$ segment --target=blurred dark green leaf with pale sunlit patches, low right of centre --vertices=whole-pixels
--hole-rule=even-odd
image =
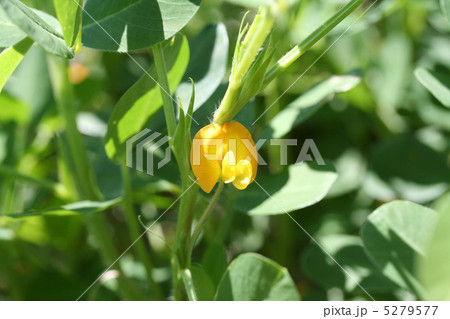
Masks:
[[[347,292],[358,291],[364,297],[367,296],[358,284],[369,293],[387,293],[397,287],[367,258],[359,237],[329,235],[319,239],[319,243],[336,261],[319,246],[311,244],[303,254],[302,262],[306,275],[321,287],[340,288]]]

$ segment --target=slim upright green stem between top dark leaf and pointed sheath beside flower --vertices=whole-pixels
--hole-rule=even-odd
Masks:
[[[173,137],[176,128],[175,111],[172,96],[170,95],[169,80],[167,79],[166,62],[164,60],[164,52],[161,43],[152,47],[153,58],[155,60],[155,68],[158,84],[161,89],[163,100],[164,115],[166,117],[167,131],[169,137]]]

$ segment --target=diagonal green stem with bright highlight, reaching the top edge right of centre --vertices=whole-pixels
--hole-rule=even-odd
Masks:
[[[342,7],[334,16],[328,19],[324,24],[314,30],[305,40],[300,44],[292,48],[281,59],[274,64],[269,71],[267,71],[264,77],[265,87],[269,84],[278,74],[286,70],[292,63],[294,63],[300,56],[302,56],[307,50],[309,50],[320,39],[326,36],[331,30],[333,30],[342,20],[344,20],[350,13],[356,10],[366,0],[351,0],[344,7]]]

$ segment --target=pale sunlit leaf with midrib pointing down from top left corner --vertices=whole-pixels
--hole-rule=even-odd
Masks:
[[[10,19],[45,51],[63,58],[73,58],[74,52],[66,45],[56,19],[44,18],[50,16],[38,14],[19,0],[0,0],[0,5]]]

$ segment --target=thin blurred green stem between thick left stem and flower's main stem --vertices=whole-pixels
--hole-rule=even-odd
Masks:
[[[123,208],[125,211],[125,216],[127,219],[131,237],[133,239],[136,239],[141,236],[142,231],[140,230],[137,216],[133,208],[133,193],[131,188],[130,172],[128,167],[123,165],[122,165],[122,176],[125,187]],[[149,251],[145,247],[144,241],[138,240],[135,243],[134,248],[136,249],[136,253],[139,256],[139,259],[144,264],[144,268],[147,274],[147,280],[150,285],[150,289],[152,290],[153,296],[155,297],[156,300],[164,300],[164,295],[161,291],[161,288],[153,278],[153,265],[150,260]]]

